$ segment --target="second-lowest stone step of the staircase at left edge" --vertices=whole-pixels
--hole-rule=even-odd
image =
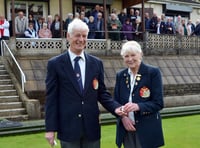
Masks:
[[[16,116],[16,115],[24,115],[24,114],[26,114],[25,108],[1,109],[0,110],[0,117]]]

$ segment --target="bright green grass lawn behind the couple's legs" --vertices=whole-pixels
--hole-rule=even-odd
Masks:
[[[163,148],[199,148],[200,115],[163,119]],[[44,133],[0,137],[0,148],[50,148]],[[55,148],[60,148],[56,146]],[[102,126],[101,148],[116,148],[115,125]]]

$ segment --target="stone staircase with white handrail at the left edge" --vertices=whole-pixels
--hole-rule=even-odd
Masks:
[[[28,119],[26,109],[17,90],[0,59],[0,119],[21,121]]]

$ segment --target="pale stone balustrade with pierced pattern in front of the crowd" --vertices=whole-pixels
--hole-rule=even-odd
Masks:
[[[86,51],[95,55],[119,55],[125,40],[88,39]],[[145,33],[143,42],[139,42],[146,55],[199,55],[200,38],[197,36],[157,35]],[[29,39],[16,38],[12,41],[18,55],[59,54],[69,47],[66,38]]]

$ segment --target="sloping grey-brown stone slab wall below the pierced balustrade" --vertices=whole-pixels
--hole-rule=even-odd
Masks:
[[[46,65],[50,57],[18,57],[27,82],[25,92],[30,98],[45,102]],[[105,84],[113,93],[115,75],[125,68],[120,56],[100,56],[104,63]],[[200,94],[199,56],[145,56],[146,64],[158,66],[162,73],[164,96]]]

